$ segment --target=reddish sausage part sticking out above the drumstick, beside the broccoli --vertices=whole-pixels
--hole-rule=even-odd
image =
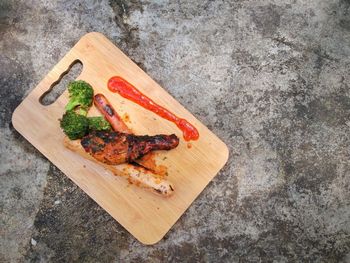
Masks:
[[[132,133],[103,94],[94,96],[94,104],[115,131]]]

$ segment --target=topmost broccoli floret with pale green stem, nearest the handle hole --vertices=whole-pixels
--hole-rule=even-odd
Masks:
[[[68,84],[69,102],[66,111],[74,110],[79,106],[79,114],[86,116],[93,100],[94,90],[83,80],[72,81]]]

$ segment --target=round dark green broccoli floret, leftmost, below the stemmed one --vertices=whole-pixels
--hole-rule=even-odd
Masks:
[[[60,126],[69,139],[76,140],[82,138],[88,132],[89,121],[83,115],[74,111],[67,111],[60,120]]]

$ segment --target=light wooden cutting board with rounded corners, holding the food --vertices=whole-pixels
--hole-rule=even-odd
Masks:
[[[168,167],[168,180],[175,186],[171,197],[130,185],[125,178],[63,146],[64,134],[58,119],[68,101],[67,90],[49,106],[42,105],[39,99],[77,60],[83,64],[78,79],[90,83],[95,93],[103,93],[120,115],[127,114],[127,125],[135,134],[175,133],[180,138],[176,149],[157,156],[158,164]],[[173,123],[111,93],[107,81],[116,75],[190,121],[199,131],[199,140],[192,141],[188,148]],[[96,109],[91,111],[98,114]],[[89,33],[79,40],[17,107],[12,122],[17,131],[144,244],[162,239],[228,159],[228,148],[218,137],[100,33]]]

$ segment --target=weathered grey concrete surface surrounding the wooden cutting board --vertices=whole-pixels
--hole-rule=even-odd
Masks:
[[[12,127],[87,32],[105,34],[230,148],[143,246]],[[350,2],[1,1],[2,262],[348,262]]]

